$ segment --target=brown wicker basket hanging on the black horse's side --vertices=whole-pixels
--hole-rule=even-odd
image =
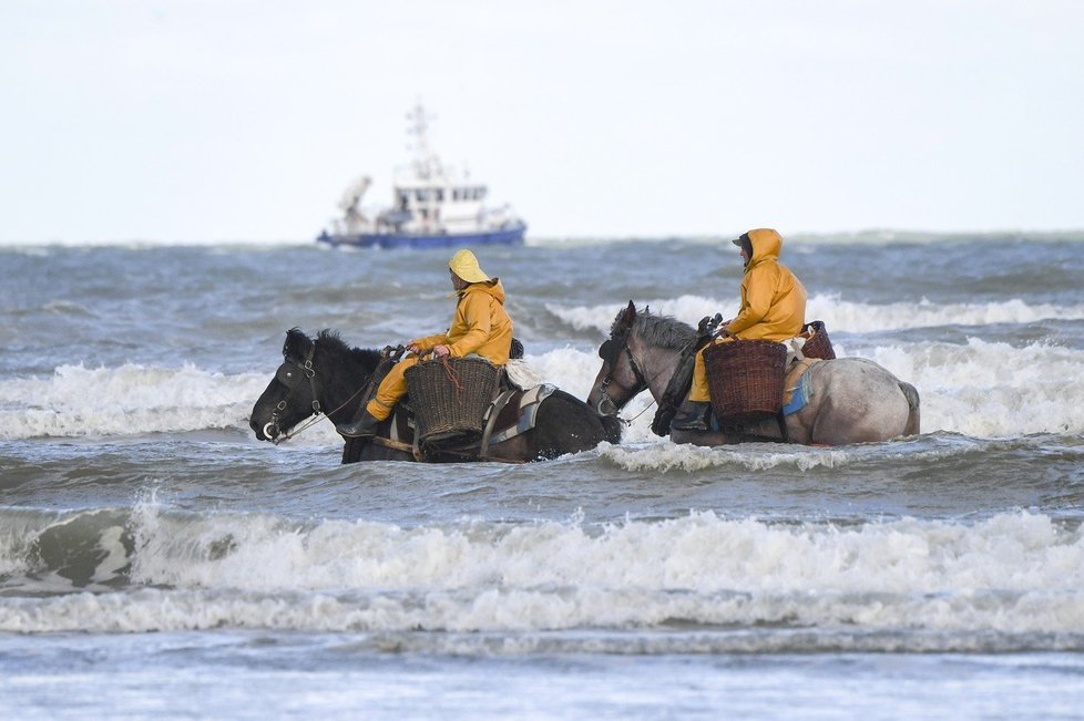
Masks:
[[[407,390],[421,442],[482,432],[501,369],[483,358],[441,358],[407,369]]]

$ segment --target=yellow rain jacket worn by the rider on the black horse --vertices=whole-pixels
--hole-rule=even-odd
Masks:
[[[508,362],[512,346],[512,319],[504,312],[504,287],[494,278],[474,282],[459,291],[456,317],[447,333],[418,338],[421,350],[448,346],[454,358],[470,353],[481,356],[494,365]]]

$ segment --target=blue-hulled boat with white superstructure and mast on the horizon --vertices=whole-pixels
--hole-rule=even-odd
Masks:
[[[341,217],[316,238],[333,246],[439,248],[521,245],[526,224],[508,205],[485,207],[489,188],[441,163],[429,145],[431,116],[419,104],[407,114],[415,158],[396,172],[390,207],[367,213],[361,200],[372,184],[351,183],[339,200]]]

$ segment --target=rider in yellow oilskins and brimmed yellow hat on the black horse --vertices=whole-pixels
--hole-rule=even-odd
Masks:
[[[452,287],[459,300],[456,316],[447,332],[417,338],[407,343],[413,353],[391,367],[380,381],[376,396],[354,423],[340,423],[339,433],[349,437],[376,435],[377,425],[391,415],[399,399],[407,393],[403,374],[430,351],[438,358],[462,358],[475,354],[494,365],[508,362],[512,346],[512,319],[504,311],[504,287],[490,278],[470,250],[459,250],[448,262]]]

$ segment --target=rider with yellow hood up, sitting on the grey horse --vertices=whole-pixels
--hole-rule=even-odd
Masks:
[[[801,332],[806,322],[806,289],[801,281],[779,264],[783,238],[769,228],[749,230],[735,239],[745,260],[742,279],[742,307],[738,315],[724,327],[724,333],[714,342],[734,338],[787,340]],[[688,401],[674,419],[674,428],[706,431],[708,403],[707,371],[704,368],[704,350],[696,353],[693,365],[693,385]]]

